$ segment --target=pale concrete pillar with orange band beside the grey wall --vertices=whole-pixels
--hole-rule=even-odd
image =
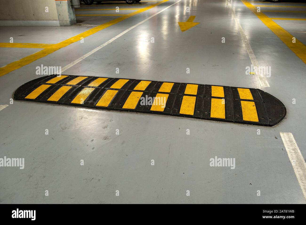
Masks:
[[[74,8],[71,7],[69,0],[55,0],[60,26],[71,26],[76,24]]]

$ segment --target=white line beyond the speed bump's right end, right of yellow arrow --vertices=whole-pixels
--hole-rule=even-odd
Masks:
[[[234,12],[234,10],[232,8],[232,5],[230,4],[230,2],[227,2],[227,3],[228,3],[228,5],[229,5],[229,7],[230,7],[230,9],[231,9],[231,11],[233,13],[234,20],[235,20],[236,25],[237,25],[237,27],[239,29],[239,32],[241,34],[244,46],[245,46],[245,48],[246,48],[246,50],[248,52],[248,55],[249,55],[249,57],[251,59],[251,62],[253,64],[253,66],[257,66],[257,68],[259,68],[259,64],[257,62],[255,54],[254,54],[254,52],[252,50],[252,47],[251,47],[250,43],[248,42],[247,36],[245,35],[245,33],[244,33],[244,31],[243,31],[239,21],[237,20],[237,17],[236,17],[236,14],[235,14],[235,12]],[[267,78],[262,73],[259,73],[259,74],[256,73],[256,75],[258,77],[260,86],[262,86],[262,87],[270,87],[270,85],[269,85],[269,83],[267,81]]]

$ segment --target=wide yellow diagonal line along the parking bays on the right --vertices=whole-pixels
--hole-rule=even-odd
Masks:
[[[257,9],[249,2],[241,0],[282,42],[293,51],[304,63],[306,63],[306,46],[296,39],[296,43],[292,43],[293,36],[275,23],[264,13],[257,13]],[[305,6],[306,7],[306,6]]]

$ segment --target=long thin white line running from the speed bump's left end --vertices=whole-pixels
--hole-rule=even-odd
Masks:
[[[126,32],[129,32],[130,30],[132,30],[133,28],[139,26],[140,24],[144,23],[145,21],[151,19],[152,17],[155,17],[157,14],[165,11],[166,9],[170,8],[171,6],[175,5],[176,3],[181,2],[181,0],[178,0],[177,2],[174,2],[172,5],[167,6],[166,8],[160,10],[159,12],[155,13],[154,15],[148,17],[147,19],[144,19],[143,21],[139,22],[138,24],[126,29],[125,31],[121,32],[120,34],[118,34],[117,36],[113,37],[112,39],[110,39],[109,41],[105,42],[104,44],[100,45],[99,47],[96,47],[94,50],[88,52],[87,54],[84,54],[82,57],[76,59],[75,61],[69,63],[67,66],[62,68],[61,72],[64,72],[66,69],[69,69],[70,67],[76,65],[76,63],[82,61],[84,58],[87,58],[88,56],[90,56],[91,54],[95,53],[96,51],[98,51],[99,49],[103,48],[104,46],[108,45],[109,43],[113,42],[114,40],[116,40],[118,37],[121,37],[122,35],[124,35]]]

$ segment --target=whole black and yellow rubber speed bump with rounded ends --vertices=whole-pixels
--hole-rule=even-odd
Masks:
[[[56,75],[21,85],[16,100],[274,126],[284,104],[255,88]]]

